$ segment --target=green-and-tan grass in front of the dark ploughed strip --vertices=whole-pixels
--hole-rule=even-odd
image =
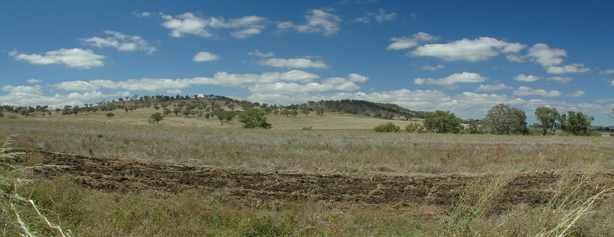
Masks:
[[[591,174],[583,173],[583,177]],[[190,190],[179,195],[90,190],[70,177],[41,179],[28,192],[47,215],[76,236],[611,236],[612,190],[574,192],[581,180],[563,179],[540,206],[517,205],[486,214],[505,177],[464,188],[451,211],[416,204],[287,203],[247,208],[216,200],[219,193]],[[612,183],[610,183],[612,184]],[[603,192],[605,191],[605,192]],[[587,203],[587,201],[594,201]],[[579,211],[584,211],[580,213]],[[34,230],[47,233],[44,227]]]

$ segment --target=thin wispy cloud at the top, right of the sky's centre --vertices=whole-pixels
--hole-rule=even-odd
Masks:
[[[294,29],[300,33],[322,33],[325,36],[336,34],[340,31],[341,17],[332,13],[332,8],[310,9],[305,17],[303,25],[296,25],[292,21],[283,21],[277,24],[277,28]]]

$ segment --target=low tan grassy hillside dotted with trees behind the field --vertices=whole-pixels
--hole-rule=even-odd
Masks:
[[[309,105],[311,104],[311,105]],[[122,101],[103,101],[98,105],[87,105],[79,107],[77,114],[74,114],[74,108],[64,108],[60,110],[50,110],[41,106],[42,111],[28,112],[28,114],[20,113],[21,109],[15,109],[14,112],[4,111],[4,117],[15,117],[16,119],[37,119],[37,120],[53,120],[63,122],[95,122],[95,123],[121,123],[131,125],[149,125],[147,119],[155,112],[163,113],[166,106],[171,112],[160,122],[159,126],[212,126],[219,128],[239,128],[242,123],[233,118],[230,122],[220,121],[214,114],[216,110],[239,112],[251,107],[259,107],[267,113],[267,121],[273,125],[275,130],[301,130],[302,128],[311,128],[314,130],[335,129],[335,130],[371,130],[373,127],[381,123],[394,122],[402,128],[410,123],[419,123],[421,118],[411,118],[410,121],[405,121],[405,117],[400,117],[400,114],[410,113],[408,109],[403,109],[392,104],[378,104],[368,101],[321,101],[319,103],[303,104],[314,108],[322,107],[331,108],[325,109],[323,113],[318,115],[316,111],[309,111],[308,114],[300,112],[300,105],[291,106],[269,106],[267,104],[251,103],[249,101],[237,101],[225,96],[212,96],[212,98],[149,98],[149,99],[123,99]],[[362,114],[352,114],[339,111],[340,108],[347,107],[356,109],[358,107],[365,111],[397,111],[391,120],[384,118],[375,118]],[[397,108],[395,108],[397,107]],[[175,108],[180,108],[177,115],[174,113]],[[296,109],[296,114],[292,114],[292,109]],[[38,109],[38,108],[36,108]],[[183,115],[185,109],[190,109],[192,112],[201,111],[199,116],[196,113]],[[287,114],[284,114],[287,112]],[[108,113],[114,114],[113,117],[107,117]],[[209,118],[206,114],[210,113]],[[393,114],[392,112],[389,112]]]

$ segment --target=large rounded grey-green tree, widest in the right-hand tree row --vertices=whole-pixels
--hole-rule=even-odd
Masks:
[[[484,118],[486,130],[492,134],[511,135],[527,133],[527,115],[508,104],[497,104]]]

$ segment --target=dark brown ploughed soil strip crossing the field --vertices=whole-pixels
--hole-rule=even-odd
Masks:
[[[181,166],[166,163],[128,162],[53,152],[41,153],[47,164],[68,166],[45,171],[46,176],[71,174],[74,182],[101,190],[134,192],[158,190],[181,193],[200,189],[223,193],[222,201],[259,206],[266,203],[329,201],[353,204],[414,204],[450,206],[459,200],[462,188],[490,175],[386,176],[308,173],[260,173],[231,168]],[[492,200],[494,212],[519,203],[543,204],[552,195],[549,186],[557,173],[519,173]],[[614,180],[614,174],[603,174]]]

